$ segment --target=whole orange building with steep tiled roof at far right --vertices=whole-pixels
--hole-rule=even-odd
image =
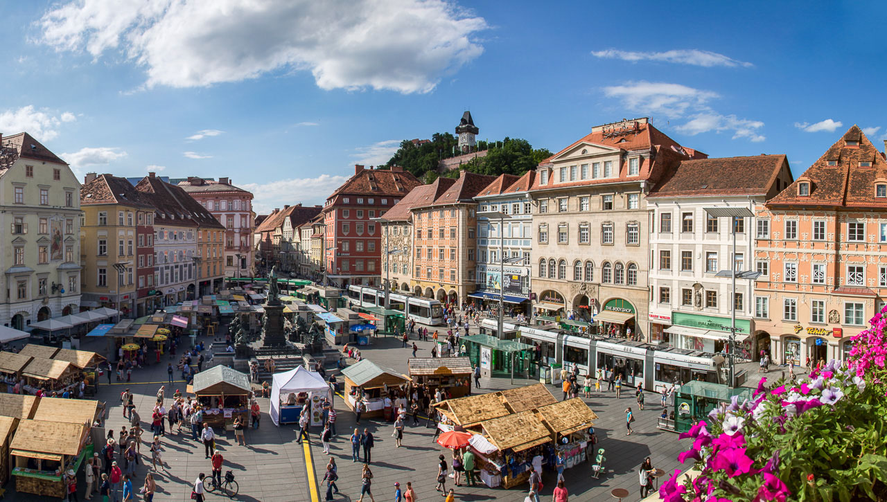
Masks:
[[[845,359],[887,297],[887,162],[853,126],[757,211],[754,315],[773,362]]]

